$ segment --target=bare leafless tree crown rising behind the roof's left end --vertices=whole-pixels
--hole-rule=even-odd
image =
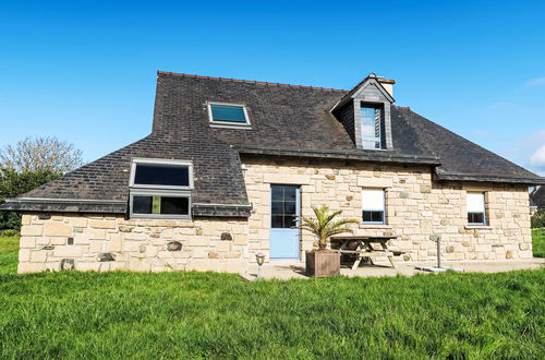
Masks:
[[[57,137],[26,137],[0,151],[0,168],[17,172],[64,173],[82,165],[82,151]]]

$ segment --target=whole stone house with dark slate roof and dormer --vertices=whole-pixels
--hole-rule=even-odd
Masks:
[[[158,72],[152,133],[8,200],[19,271],[243,272],[301,260],[294,228],[327,204],[398,261],[532,257],[541,178],[399,107],[395,81],[351,91]]]

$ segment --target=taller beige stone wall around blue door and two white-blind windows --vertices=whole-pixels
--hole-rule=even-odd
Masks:
[[[523,185],[437,182],[425,166],[377,166],[362,163],[316,160],[243,159],[249,199],[251,253],[268,257],[270,231],[270,184],[301,185],[302,214],[311,206],[328,205],[342,216],[361,219],[362,189],[386,190],[386,225],[354,226],[354,235],[397,236],[392,248],[404,261],[436,260],[440,236],[443,259],[501,260],[532,257],[529,194]],[[486,192],[488,226],[470,227],[467,220],[467,191]],[[303,252],[314,238],[302,233]],[[400,259],[400,257],[398,257]],[[399,260],[398,260],[399,261]]]

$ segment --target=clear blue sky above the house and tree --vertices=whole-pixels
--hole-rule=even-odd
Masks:
[[[156,71],[351,88],[370,72],[428,119],[545,175],[543,1],[13,1],[0,146],[96,159],[149,133]],[[531,160],[532,159],[532,160]]]

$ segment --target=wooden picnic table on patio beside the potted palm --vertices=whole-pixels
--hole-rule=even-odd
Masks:
[[[355,254],[356,259],[352,265],[352,269],[356,269],[364,257],[368,257],[373,264],[373,260],[378,254],[385,254],[391,264],[393,264],[393,252],[388,250],[387,242],[397,237],[362,237],[362,236],[348,236],[348,237],[331,237],[331,250],[338,251],[341,254]],[[380,249],[373,248],[373,244],[379,244]],[[339,245],[334,249],[334,245]]]

